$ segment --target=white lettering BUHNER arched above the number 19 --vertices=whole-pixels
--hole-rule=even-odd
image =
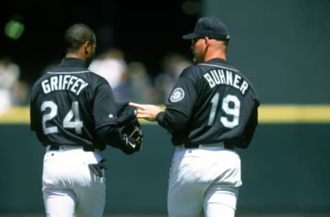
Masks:
[[[205,73],[203,77],[210,85],[210,88],[219,84],[230,85],[231,87],[238,89],[242,95],[244,95],[245,91],[249,88],[248,82],[238,74],[229,70],[213,69]]]

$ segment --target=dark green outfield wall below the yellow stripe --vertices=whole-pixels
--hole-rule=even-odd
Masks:
[[[168,168],[174,147],[166,130],[143,124],[135,155],[107,148],[108,213],[166,213]],[[28,124],[1,124],[0,214],[43,212],[43,146]],[[243,186],[239,212],[330,211],[330,123],[261,124],[250,148],[238,150]]]

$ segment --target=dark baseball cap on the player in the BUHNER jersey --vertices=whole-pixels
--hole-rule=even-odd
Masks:
[[[217,17],[204,16],[201,17],[196,25],[194,32],[182,36],[184,39],[209,37],[214,39],[223,39],[229,41],[230,34],[228,28]]]

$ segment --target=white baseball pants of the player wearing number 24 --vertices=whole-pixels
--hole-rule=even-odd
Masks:
[[[61,146],[49,150],[43,161],[43,200],[47,217],[101,217],[105,205],[105,177],[96,176],[89,163],[98,163],[98,152]]]

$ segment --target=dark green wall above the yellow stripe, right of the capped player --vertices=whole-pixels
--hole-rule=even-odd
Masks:
[[[200,9],[228,25],[227,60],[261,102],[329,104],[329,0],[203,0]]]

